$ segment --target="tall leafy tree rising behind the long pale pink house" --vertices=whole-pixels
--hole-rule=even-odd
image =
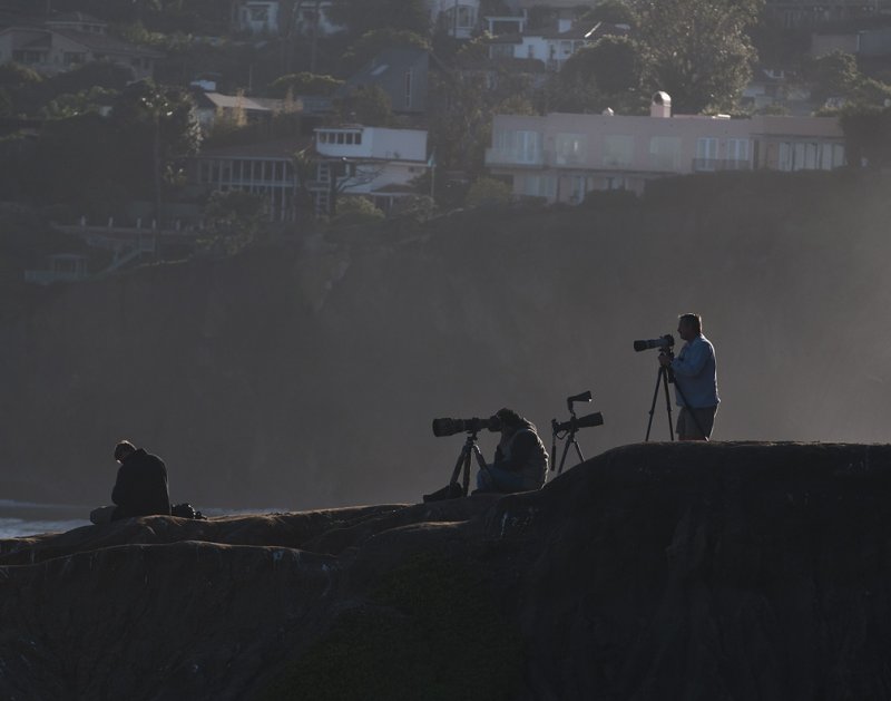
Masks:
[[[678,111],[732,109],[752,76],[756,52],[746,29],[762,0],[637,0],[649,87]]]

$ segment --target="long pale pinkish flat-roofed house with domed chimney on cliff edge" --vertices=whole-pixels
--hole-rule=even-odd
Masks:
[[[498,115],[486,165],[515,195],[579,203],[591,191],[642,193],[648,181],[716,171],[832,169],[845,164],[834,117],[672,115],[653,96],[649,116]]]

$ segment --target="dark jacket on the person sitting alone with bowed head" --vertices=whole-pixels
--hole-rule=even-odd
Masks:
[[[164,460],[141,448],[128,455],[118,468],[111,500],[117,504],[112,520],[153,514],[169,515],[170,495]]]

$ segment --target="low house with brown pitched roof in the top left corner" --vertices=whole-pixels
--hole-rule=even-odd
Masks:
[[[107,33],[107,23],[82,12],[58,14],[42,25],[0,30],[0,64],[14,61],[53,76],[84,64],[108,60],[129,68],[134,80],[150,78],[164,55]]]

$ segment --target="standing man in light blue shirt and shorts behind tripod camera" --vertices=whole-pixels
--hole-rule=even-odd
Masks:
[[[677,438],[708,440],[721,402],[717,396],[715,348],[703,335],[703,320],[698,314],[681,314],[677,334],[686,341],[677,358],[659,356],[659,364],[669,367],[675,376],[675,399],[681,407]]]

